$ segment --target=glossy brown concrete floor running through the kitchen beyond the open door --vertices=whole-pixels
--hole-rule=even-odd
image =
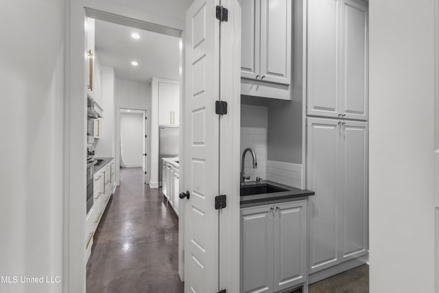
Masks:
[[[178,218],[142,168],[121,169],[87,264],[87,293],[183,292],[178,277]]]

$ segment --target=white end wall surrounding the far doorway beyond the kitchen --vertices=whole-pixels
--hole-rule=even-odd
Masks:
[[[115,103],[116,103],[116,181],[120,183],[120,113],[119,109],[146,110],[147,119],[150,118],[151,108],[151,84],[149,82],[137,82],[134,80],[115,80]],[[147,124],[147,135],[150,135],[150,123]],[[147,154],[150,154],[150,139],[147,139]],[[151,155],[147,156],[147,182],[151,177]]]

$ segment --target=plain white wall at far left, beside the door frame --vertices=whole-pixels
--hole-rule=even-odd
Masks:
[[[1,3],[1,276],[64,281],[64,34],[65,1]],[[62,285],[2,283],[0,291],[61,292]]]

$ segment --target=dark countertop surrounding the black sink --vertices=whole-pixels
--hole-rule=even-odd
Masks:
[[[255,183],[254,181],[250,181],[246,183],[245,187],[257,187],[263,183],[274,185],[275,187],[280,187],[282,189],[287,189],[287,191],[273,192],[270,194],[254,194],[251,196],[250,195],[240,196],[241,207],[254,207],[261,204],[288,202],[292,200],[307,198],[308,196],[313,196],[316,194],[314,191],[311,190],[298,189],[296,187],[275,183],[270,180],[262,180],[260,183]]]

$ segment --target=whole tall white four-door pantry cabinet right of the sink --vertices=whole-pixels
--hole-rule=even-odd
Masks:
[[[368,254],[368,3],[308,0],[309,281]]]

